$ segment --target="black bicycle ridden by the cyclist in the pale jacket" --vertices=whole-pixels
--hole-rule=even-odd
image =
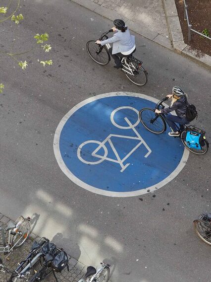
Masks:
[[[104,32],[99,38],[100,41],[108,39],[107,34],[113,32],[112,29]],[[110,61],[110,54],[108,49],[110,44],[102,46],[101,44],[96,44],[96,40],[90,40],[87,42],[86,49],[89,56],[97,64],[105,66]],[[134,58],[132,55],[129,57],[124,57],[121,59],[123,68],[121,69],[127,78],[138,86],[143,86],[147,83],[147,71],[142,67],[141,61]]]

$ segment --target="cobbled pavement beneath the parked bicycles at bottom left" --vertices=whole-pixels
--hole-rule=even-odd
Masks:
[[[3,214],[0,213],[0,225],[5,226],[9,220],[10,218],[3,216]],[[23,246],[21,246],[18,249],[14,249],[12,254],[9,256],[10,261],[5,260],[4,259],[5,256],[0,254],[0,257],[3,260],[3,264],[10,270],[16,269],[18,262],[22,261],[29,253],[29,249],[31,248],[33,240],[39,241],[40,237],[31,233],[30,238],[26,240]],[[1,238],[0,238],[0,242],[1,242]],[[69,256],[69,272],[67,271],[67,269],[65,269],[61,274],[56,273],[56,278],[58,282],[78,282],[83,277],[85,272],[86,272],[85,265],[83,265],[82,263],[78,262],[77,260]],[[0,271],[0,282],[6,282],[9,279],[9,277],[10,277],[9,274],[5,274],[2,271]],[[46,278],[45,281],[54,282],[55,278],[53,277],[53,274],[51,274],[48,278]]]

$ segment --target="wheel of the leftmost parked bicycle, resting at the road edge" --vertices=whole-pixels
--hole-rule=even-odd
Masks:
[[[12,246],[14,246],[14,248],[21,247],[23,243],[26,241],[26,239],[28,238],[30,231],[31,231],[31,222],[28,218],[24,218],[24,220],[15,228],[15,232],[17,233],[12,236]],[[19,242],[16,244],[18,240]]]

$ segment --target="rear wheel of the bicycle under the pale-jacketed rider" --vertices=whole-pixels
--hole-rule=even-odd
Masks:
[[[144,86],[148,80],[147,71],[142,67],[138,68],[134,63],[129,63],[129,67],[132,70],[132,73],[128,73],[130,70],[127,70],[127,66],[123,65],[123,71],[127,78],[138,86]]]

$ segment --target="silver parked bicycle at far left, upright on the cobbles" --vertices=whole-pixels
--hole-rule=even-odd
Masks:
[[[2,238],[2,244],[0,246],[0,253],[8,256],[14,248],[19,248],[28,238],[31,232],[31,219],[30,217],[23,217],[20,215],[15,222],[9,221],[6,228],[0,226],[0,233]],[[8,239],[7,239],[8,237]],[[7,241],[6,241],[7,239]]]

